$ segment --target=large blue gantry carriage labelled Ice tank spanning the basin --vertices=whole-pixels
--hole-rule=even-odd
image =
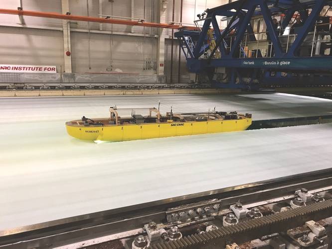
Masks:
[[[175,32],[196,79],[214,87],[332,85],[332,0],[237,0]],[[295,20],[297,19],[297,20]],[[226,20],[221,30],[219,20]],[[254,32],[255,21],[265,22]],[[297,23],[294,25],[294,23]],[[257,29],[257,28],[256,28]]]

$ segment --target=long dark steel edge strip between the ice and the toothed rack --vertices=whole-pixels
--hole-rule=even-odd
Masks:
[[[110,235],[140,229],[150,221],[163,223],[168,208],[204,200],[219,199],[220,208],[228,208],[239,199],[246,205],[294,194],[300,188],[317,189],[331,185],[332,168],[179,196],[0,231],[0,248],[56,246],[59,242],[92,235],[102,236],[106,232]]]

